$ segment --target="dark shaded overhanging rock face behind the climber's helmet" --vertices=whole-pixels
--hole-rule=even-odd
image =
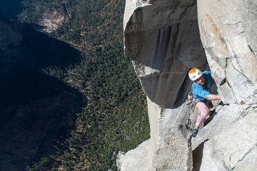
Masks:
[[[146,95],[163,108],[182,105],[191,83],[188,70],[207,63],[196,1],[154,1],[137,8],[126,23],[124,44]]]

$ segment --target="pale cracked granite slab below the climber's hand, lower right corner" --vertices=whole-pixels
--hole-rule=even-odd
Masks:
[[[256,170],[256,128],[256,106],[220,108],[213,120],[192,139],[193,150],[204,142],[200,170]]]

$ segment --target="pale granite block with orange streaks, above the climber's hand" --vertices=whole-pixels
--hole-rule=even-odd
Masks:
[[[202,44],[225,103],[257,103],[256,9],[254,0],[198,1]]]

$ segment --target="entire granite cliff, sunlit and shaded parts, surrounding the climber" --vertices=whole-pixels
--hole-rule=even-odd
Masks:
[[[148,99],[151,139],[120,154],[121,170],[256,168],[256,9],[254,1],[126,1],[124,52]],[[223,103],[191,139],[187,72],[207,62]]]

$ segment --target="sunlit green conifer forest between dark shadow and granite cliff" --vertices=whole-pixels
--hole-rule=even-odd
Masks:
[[[23,1],[19,21],[37,24],[43,14],[64,14],[61,0]],[[83,94],[86,105],[77,113],[57,154],[40,154],[26,170],[117,170],[119,151],[149,139],[146,97],[123,54],[122,19],[125,0],[66,0],[67,21],[48,36],[66,41],[80,61],[42,72]]]

